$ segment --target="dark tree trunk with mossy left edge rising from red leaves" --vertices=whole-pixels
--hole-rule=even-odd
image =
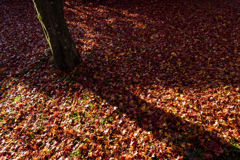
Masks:
[[[63,0],[33,0],[33,3],[55,66],[61,70],[77,66],[80,56],[64,19]]]

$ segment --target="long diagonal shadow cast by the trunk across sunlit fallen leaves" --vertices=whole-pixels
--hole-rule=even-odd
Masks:
[[[90,64],[91,62],[85,63]],[[136,90],[133,89],[135,84],[140,84],[137,82],[139,77],[116,74],[116,71],[108,71],[108,67],[109,66],[102,67],[100,64],[85,64],[80,66],[83,71],[81,73],[76,71],[74,73],[75,77],[73,76],[71,80],[93,91],[96,95],[106,100],[111,106],[116,106],[118,108],[116,113],[125,113],[127,117],[136,122],[137,126],[153,133],[154,139],[158,142],[172,144],[175,153],[181,155],[181,145],[189,145],[187,147],[189,151],[195,150],[196,147],[201,147],[208,153],[216,153],[218,155],[231,146],[229,141],[225,141],[218,136],[218,131],[208,131],[207,128],[204,128],[200,124],[201,122],[204,123],[204,117],[207,117],[207,115],[203,114],[201,122],[194,124],[182,119],[178,113],[173,114],[171,111],[166,112],[164,109],[176,105],[174,104],[176,100],[164,100],[162,99],[162,95],[155,97],[155,102],[143,100],[140,98],[141,95],[134,94]],[[139,79],[142,78],[146,77],[140,77]],[[161,79],[161,77],[158,78]],[[158,88],[157,83],[154,84],[154,82],[151,81],[152,77],[148,77],[147,79],[149,79],[149,81],[145,81],[145,83],[148,83],[144,85],[146,87],[145,90]],[[161,92],[160,90],[158,91]],[[148,93],[146,93],[145,99],[148,98],[150,97],[148,97]],[[189,106],[184,107],[189,108]],[[196,110],[195,113],[197,112]],[[235,148],[235,150],[236,153],[239,152],[239,149]],[[161,149],[156,149],[154,152],[161,156]],[[188,152],[188,154],[190,157],[194,155],[191,152]]]

